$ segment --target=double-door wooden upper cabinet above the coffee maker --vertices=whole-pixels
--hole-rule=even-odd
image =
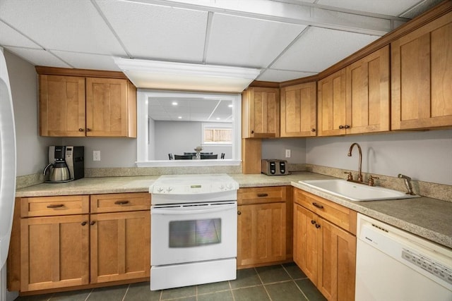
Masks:
[[[136,87],[125,79],[41,74],[40,135],[136,137]]]

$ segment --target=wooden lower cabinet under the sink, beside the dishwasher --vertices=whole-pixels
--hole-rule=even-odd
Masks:
[[[356,212],[294,188],[293,258],[328,300],[355,300]]]

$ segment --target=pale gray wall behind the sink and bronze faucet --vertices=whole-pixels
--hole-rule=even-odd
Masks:
[[[307,138],[306,163],[357,171],[357,148],[347,156],[353,142],[363,172],[452,185],[452,130]]]

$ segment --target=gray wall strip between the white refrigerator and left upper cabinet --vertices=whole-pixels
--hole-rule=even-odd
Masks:
[[[58,138],[40,137],[37,124],[37,73],[35,66],[4,49],[13,96],[16,123],[17,176],[40,173],[47,165],[49,145]]]

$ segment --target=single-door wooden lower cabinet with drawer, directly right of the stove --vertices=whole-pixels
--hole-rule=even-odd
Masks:
[[[240,188],[237,267],[292,259],[292,187]]]

